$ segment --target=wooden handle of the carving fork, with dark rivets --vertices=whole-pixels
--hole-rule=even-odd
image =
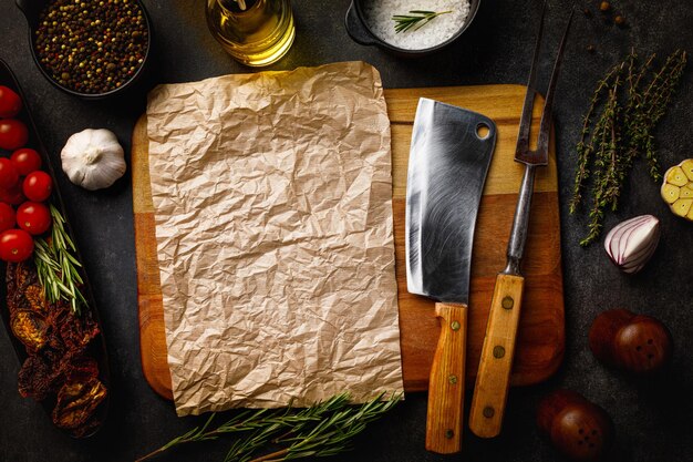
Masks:
[[[500,433],[524,285],[525,278],[521,276],[500,274],[496,277],[469,410],[469,429],[477,437],[493,438]]]

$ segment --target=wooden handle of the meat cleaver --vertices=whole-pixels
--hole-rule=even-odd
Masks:
[[[441,454],[459,452],[464,411],[467,306],[435,304],[441,336],[431,366],[426,449]]]

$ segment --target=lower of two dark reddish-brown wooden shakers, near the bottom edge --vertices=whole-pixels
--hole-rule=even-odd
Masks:
[[[598,461],[613,441],[613,422],[599,405],[571,390],[557,390],[537,410],[539,430],[576,461]]]

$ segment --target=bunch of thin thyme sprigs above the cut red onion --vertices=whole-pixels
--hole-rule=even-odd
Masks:
[[[583,119],[577,144],[577,171],[570,213],[583,201],[588,179],[592,179],[592,201],[586,246],[599,237],[604,214],[617,211],[625,178],[638,156],[644,157],[650,176],[660,182],[660,164],[654,145],[654,129],[666,112],[686,64],[685,51],[672,53],[662,68],[652,72],[655,55],[638,65],[631,52],[597,84]]]

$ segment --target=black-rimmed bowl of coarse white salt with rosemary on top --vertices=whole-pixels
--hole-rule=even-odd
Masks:
[[[480,0],[353,0],[346,31],[361,44],[423,55],[457,39]]]

